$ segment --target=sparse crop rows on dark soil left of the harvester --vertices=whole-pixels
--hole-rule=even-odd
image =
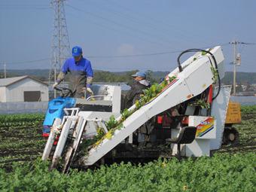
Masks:
[[[0,116],[0,167],[12,162],[31,162],[41,156],[45,140],[41,137],[43,114]]]

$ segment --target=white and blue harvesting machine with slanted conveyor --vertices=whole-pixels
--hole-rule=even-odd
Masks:
[[[181,64],[181,55],[190,52],[194,56]],[[49,103],[44,120],[49,137],[42,159],[51,160],[51,169],[62,164],[67,172],[71,165],[106,160],[209,156],[221,148],[230,99],[230,86],[221,86],[221,78],[224,56],[218,46],[182,52],[178,67],[129,109],[120,108],[118,86],[94,85],[94,95],[87,99],[72,98],[72,90],[61,89],[68,94]],[[181,142],[190,137],[185,127],[196,130],[189,144]],[[177,140],[181,132],[184,136]]]

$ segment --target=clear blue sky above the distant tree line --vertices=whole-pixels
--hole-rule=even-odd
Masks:
[[[233,50],[228,43],[256,43],[254,0],[67,0],[65,9],[70,46],[80,45],[93,69],[172,71],[177,66],[175,51],[221,44],[226,71],[231,71]],[[7,69],[49,69],[50,1],[0,0],[0,26],[0,70],[4,61]],[[239,45],[238,51],[238,71],[256,72],[256,44]],[[26,62],[40,59],[46,60]]]

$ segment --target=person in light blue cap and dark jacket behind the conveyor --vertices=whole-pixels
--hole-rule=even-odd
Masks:
[[[133,84],[131,89],[126,93],[126,108],[130,108],[136,100],[140,99],[140,95],[143,94],[143,90],[150,87],[149,81],[146,80],[145,72],[136,72],[132,75]]]

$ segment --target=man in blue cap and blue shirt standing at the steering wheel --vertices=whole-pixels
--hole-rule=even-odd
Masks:
[[[90,65],[90,61],[83,57],[81,47],[72,48],[72,58],[66,60],[62,66],[56,83],[53,84],[53,88],[56,87],[67,75],[70,73],[70,87],[75,90],[76,98],[84,98],[86,91],[91,92],[90,87],[93,81],[93,69]]]

